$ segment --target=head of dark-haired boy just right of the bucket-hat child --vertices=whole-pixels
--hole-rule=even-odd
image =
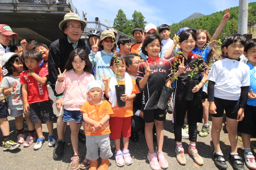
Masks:
[[[131,50],[131,42],[132,41],[129,37],[121,35],[116,43],[120,49],[119,53],[117,54],[121,54],[122,56],[128,54]]]

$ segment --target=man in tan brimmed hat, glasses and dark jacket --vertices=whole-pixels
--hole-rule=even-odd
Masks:
[[[67,126],[67,123],[62,121],[63,95],[56,94],[55,92],[55,82],[57,81],[57,76],[59,75],[58,68],[60,68],[61,73],[63,73],[64,66],[68,60],[70,52],[76,48],[84,49],[87,54],[90,53],[89,46],[80,40],[86,24],[87,23],[85,21],[80,19],[78,14],[67,13],[64,16],[64,20],[59,24],[59,28],[63,32],[63,37],[55,40],[52,44],[50,44],[49,47],[48,81],[53,89],[53,98],[56,100],[56,107],[59,112],[57,120],[58,141],[56,142],[56,146],[53,151],[53,158],[60,158],[64,154],[64,133]]]

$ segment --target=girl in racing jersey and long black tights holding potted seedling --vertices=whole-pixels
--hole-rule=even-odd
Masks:
[[[195,163],[198,165],[203,165],[203,158],[198,154],[196,149],[196,138],[197,138],[197,122],[202,121],[203,108],[201,102],[201,91],[199,91],[202,86],[207,81],[206,70],[207,66],[201,56],[192,53],[196,45],[195,30],[186,29],[181,32],[180,39],[178,40],[178,45],[181,48],[181,53],[175,55],[171,59],[171,64],[174,66],[174,70],[178,70],[177,79],[175,80],[175,91],[173,98],[174,112],[173,112],[173,122],[174,122],[174,135],[176,141],[176,159],[180,164],[186,164],[186,157],[184,156],[184,149],[182,147],[182,126],[184,124],[184,117],[188,116],[189,125],[189,141],[190,145],[188,147],[188,152],[193,156]],[[183,69],[177,69],[181,64],[177,60],[182,60],[184,63]],[[200,77],[202,75],[202,79]],[[187,84],[187,78],[195,77],[197,79],[197,85],[192,89],[194,93],[193,99],[191,101],[185,99],[185,90]]]

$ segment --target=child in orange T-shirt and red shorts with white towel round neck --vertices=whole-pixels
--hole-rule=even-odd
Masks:
[[[110,115],[110,140],[115,142],[115,161],[116,165],[122,167],[124,164],[130,165],[133,163],[130,157],[128,145],[129,137],[131,136],[131,122],[133,116],[133,99],[137,93],[140,93],[139,88],[136,85],[135,80],[126,72],[127,64],[124,56],[118,54],[112,57],[110,61],[110,68],[115,72],[110,79],[108,79],[103,72],[102,78],[104,83],[104,93],[109,98],[109,102],[112,105],[114,114]],[[124,107],[116,105],[116,89],[115,85],[125,85],[125,94],[121,97],[121,100],[125,102]],[[121,128],[120,128],[121,127]],[[123,150],[120,149],[120,138],[123,136]]]

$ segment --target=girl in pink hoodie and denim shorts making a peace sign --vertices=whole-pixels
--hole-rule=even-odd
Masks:
[[[69,123],[71,142],[74,150],[70,167],[77,167],[80,162],[78,132],[81,123],[85,124],[82,121],[80,110],[82,105],[87,101],[87,84],[94,80],[94,76],[91,74],[92,68],[92,63],[83,49],[75,49],[70,53],[63,73],[58,68],[60,74],[56,81],[55,90],[56,93],[63,93],[64,96],[64,114],[62,120]]]

